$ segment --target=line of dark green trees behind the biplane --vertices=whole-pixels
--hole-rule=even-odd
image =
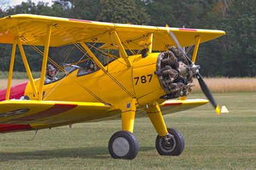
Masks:
[[[7,3],[0,0],[0,17],[31,13],[121,24],[224,30],[225,36],[199,45],[196,64],[201,66],[201,75],[256,76],[255,0],[56,0],[51,6],[28,0],[13,7],[6,6]],[[49,54],[61,63],[72,49],[71,45],[50,48]],[[24,46],[24,50],[31,69],[40,71],[42,56],[30,46]],[[193,49],[188,54],[193,54]],[[17,52],[16,56],[19,55]],[[82,54],[73,50],[71,55],[67,62],[76,62]],[[11,45],[0,44],[0,71],[9,71],[10,56]],[[15,69],[24,71],[21,57],[15,57]]]

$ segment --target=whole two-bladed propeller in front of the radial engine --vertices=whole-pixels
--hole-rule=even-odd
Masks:
[[[177,38],[174,36],[174,34],[172,33],[172,31],[169,30],[169,34],[172,37],[172,40],[174,40],[174,42],[177,44],[177,46],[179,46],[181,52],[183,52],[183,54],[186,56],[187,60],[189,61],[189,67],[191,69],[191,71],[196,75],[197,80],[199,82],[199,85],[203,91],[203,93],[206,95],[206,97],[209,99],[209,101],[212,103],[212,105],[214,105],[215,108],[215,112],[217,114],[220,114],[220,107],[219,105],[216,103],[216,101],[214,100],[214,97],[212,95],[212,92],[210,91],[210,89],[207,87],[207,85],[205,84],[205,82],[203,81],[203,77],[201,77],[200,73],[199,73],[199,69],[200,66],[199,65],[195,65],[193,62],[191,62],[190,58],[187,56],[187,54],[183,51],[183,49],[181,48],[181,45],[179,44]]]

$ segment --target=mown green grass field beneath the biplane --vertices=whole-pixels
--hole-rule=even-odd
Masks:
[[[164,116],[185,138],[179,157],[158,155],[148,118],[135,120],[139,153],[112,159],[108,140],[121,121],[74,124],[34,132],[0,134],[0,169],[256,169],[256,93],[216,93],[230,113],[217,115],[210,103]],[[205,98],[191,94],[192,98]]]

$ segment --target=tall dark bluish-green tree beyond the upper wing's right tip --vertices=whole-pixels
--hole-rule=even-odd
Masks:
[[[256,75],[256,1],[236,0],[228,8],[228,17],[220,19],[226,31],[223,75],[255,77]]]

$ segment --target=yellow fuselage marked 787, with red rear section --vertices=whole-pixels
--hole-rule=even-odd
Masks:
[[[45,84],[42,100],[104,102],[111,105],[127,97],[136,98],[139,105],[164,101],[159,98],[166,93],[155,75],[158,55],[152,53],[146,58],[129,56],[133,63],[130,68],[123,58],[118,58],[105,66],[108,74],[100,69],[89,74],[84,74],[84,69],[75,69],[58,81]],[[40,79],[34,80],[34,83],[38,89]],[[6,90],[0,91],[1,101],[5,100],[5,94]],[[10,99],[36,100],[30,82],[11,87]]]

